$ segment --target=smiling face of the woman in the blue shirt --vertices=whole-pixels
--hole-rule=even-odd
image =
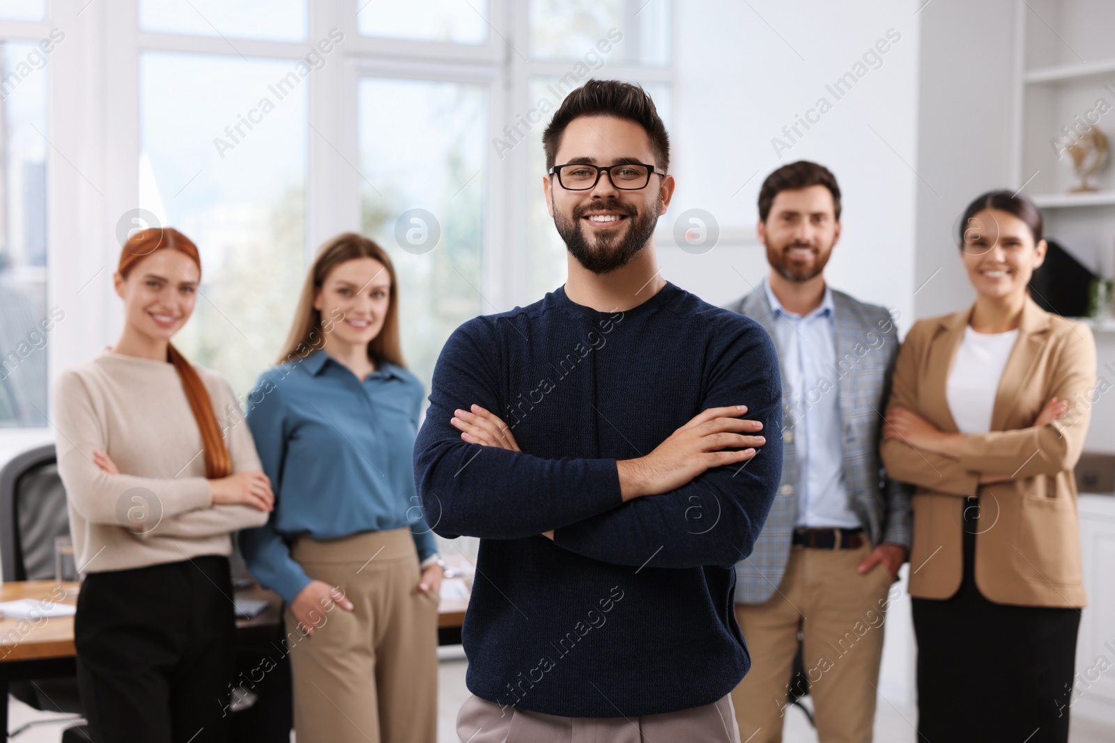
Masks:
[[[379,335],[391,302],[391,275],[375,258],[353,258],[333,266],[313,299],[330,341],[368,345]]]

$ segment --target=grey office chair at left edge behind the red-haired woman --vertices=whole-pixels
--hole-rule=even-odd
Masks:
[[[55,538],[61,536],[69,536],[66,490],[58,476],[55,447],[47,444],[14,457],[0,470],[0,565],[4,583],[52,579]],[[65,714],[68,721],[84,715],[75,677],[13,681],[9,693],[36,710]],[[88,741],[83,731],[81,725],[68,727],[62,732],[62,743]]]

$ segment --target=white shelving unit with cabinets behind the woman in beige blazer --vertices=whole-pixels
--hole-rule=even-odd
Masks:
[[[1041,208],[1050,237],[1086,237],[1095,242],[1099,273],[1115,272],[1115,163],[1093,176],[1093,192],[1073,193],[1077,176],[1063,127],[1098,127],[1115,150],[1115,2],[1111,0],[1017,0],[1015,27],[1014,185]],[[973,78],[978,85],[978,78]],[[1104,105],[1099,105],[1103,100]],[[1109,108],[1108,108],[1109,107]],[[1106,113],[1099,113],[1101,109]],[[978,113],[977,113],[978,114]],[[1090,114],[1092,121],[1087,121]],[[1115,159],[1115,151],[1111,155]],[[1093,329],[1098,373],[1115,363],[1115,321],[1085,320]],[[1087,447],[1115,450],[1113,428],[1093,414]],[[1115,617],[1115,497],[1082,496],[1080,539],[1088,607],[1077,642],[1076,669],[1085,673],[1099,655],[1112,661],[1104,643],[1112,639]],[[1108,674],[1105,674],[1105,676]],[[1077,717],[1115,724],[1115,681],[1092,684],[1073,705]]]

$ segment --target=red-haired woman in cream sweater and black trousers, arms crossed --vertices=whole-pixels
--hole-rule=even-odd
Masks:
[[[274,497],[229,383],[171,345],[196,302],[197,247],[139,231],[113,281],[124,332],[55,391],[81,701],[98,743],[225,741],[231,534],[264,524]]]

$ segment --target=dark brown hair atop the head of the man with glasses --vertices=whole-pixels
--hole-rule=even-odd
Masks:
[[[549,126],[542,133],[542,147],[546,153],[546,169],[554,166],[562,135],[569,123],[581,116],[612,116],[634,121],[647,130],[650,150],[662,170],[670,169],[670,135],[658,116],[655,101],[641,86],[619,80],[589,80],[573,90],[561,102]]]

